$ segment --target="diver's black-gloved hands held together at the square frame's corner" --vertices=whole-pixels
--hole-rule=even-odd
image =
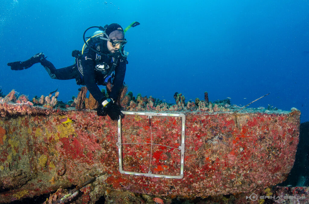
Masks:
[[[104,99],[101,100],[99,108],[97,109],[98,116],[108,115],[112,120],[118,120],[119,116],[124,116],[120,107],[114,104],[114,100],[112,98],[107,98],[106,100]]]

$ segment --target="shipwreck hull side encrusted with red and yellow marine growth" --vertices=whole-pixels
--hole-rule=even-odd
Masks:
[[[252,192],[286,179],[300,125],[298,110],[181,112],[183,178],[174,179],[120,173],[119,160],[124,171],[180,176],[180,117],[126,115],[122,143],[166,146],[123,144],[119,155],[118,123],[109,117],[94,111],[26,109],[0,117],[0,202],[81,185],[92,177],[96,186],[162,196]],[[67,117],[75,124],[60,122]]]

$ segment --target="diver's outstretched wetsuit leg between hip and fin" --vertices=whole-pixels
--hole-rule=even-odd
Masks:
[[[69,80],[75,79],[78,76],[77,65],[71,65],[69,67],[64,67],[61,69],[56,69],[53,63],[49,62],[46,59],[41,61],[41,65],[45,68],[48,72],[50,78],[52,79],[59,79],[59,80]]]

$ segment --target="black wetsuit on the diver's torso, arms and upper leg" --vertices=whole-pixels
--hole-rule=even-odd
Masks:
[[[98,55],[95,51],[89,49],[89,47],[92,47],[101,53],[106,53],[106,55]],[[76,63],[74,65],[69,67],[56,69],[55,66],[46,59],[42,59],[41,64],[44,66],[52,79],[76,79],[76,83],[78,85],[85,85],[95,100],[100,102],[103,98],[105,98],[105,96],[100,91],[98,85],[105,85],[104,77],[112,67],[112,64],[116,62],[116,55],[114,57],[108,55],[109,51],[107,48],[107,42],[99,38],[91,39],[89,41],[89,47],[86,47],[83,55],[76,59]],[[109,97],[113,100],[117,99],[123,85],[126,64],[128,63],[125,57],[121,56],[120,53],[118,55],[120,56],[120,59],[115,66],[113,88],[111,93],[109,93]],[[104,64],[104,70],[96,68],[100,64]]]

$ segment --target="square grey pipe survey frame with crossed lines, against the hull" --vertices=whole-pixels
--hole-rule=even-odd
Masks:
[[[182,114],[182,113],[133,112],[133,111],[122,111],[122,113],[126,114],[126,115],[148,116],[149,120],[153,116],[167,116],[167,117],[180,117],[181,118],[181,143],[180,143],[180,146],[178,148],[174,148],[174,149],[180,150],[180,174],[179,175],[154,174],[150,171],[150,167],[149,167],[148,173],[140,173],[140,172],[132,172],[132,171],[123,170],[122,145],[125,145],[125,144],[122,144],[122,138],[121,138],[121,118],[118,120],[118,142],[116,143],[116,145],[118,146],[118,153],[119,153],[119,171],[120,171],[120,173],[136,175],[136,176],[182,179],[184,177],[185,115]],[[150,128],[151,128],[151,126],[150,126]],[[152,135],[151,134],[150,134],[150,137],[151,137],[151,143],[129,143],[129,144],[148,144],[148,145],[151,145],[151,151],[152,151],[153,145],[160,145],[160,144],[152,143]],[[169,147],[167,145],[160,145],[160,146]],[[170,148],[173,148],[173,147],[170,147]],[[151,156],[150,156],[150,166],[151,166]]]

